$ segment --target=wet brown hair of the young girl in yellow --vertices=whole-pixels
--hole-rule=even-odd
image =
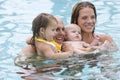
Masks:
[[[56,21],[56,18],[48,13],[41,13],[32,22],[32,31],[33,31],[33,37],[31,39],[31,42],[33,45],[35,45],[35,36],[39,36],[40,28],[46,29],[48,25],[51,25],[52,21]]]

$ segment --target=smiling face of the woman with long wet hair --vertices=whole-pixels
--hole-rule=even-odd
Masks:
[[[78,25],[81,27],[82,32],[92,33],[95,23],[96,18],[92,8],[85,7],[79,11]]]

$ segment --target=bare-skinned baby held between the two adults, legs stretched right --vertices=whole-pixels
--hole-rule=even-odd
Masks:
[[[88,53],[96,49],[105,50],[106,45],[108,45],[108,41],[101,45],[100,42],[97,41],[97,39],[94,40],[91,45],[81,41],[81,29],[76,24],[68,24],[67,26],[65,26],[65,32],[66,37],[65,42],[63,43],[63,51],[65,50],[64,46],[66,44],[72,46],[74,53]]]

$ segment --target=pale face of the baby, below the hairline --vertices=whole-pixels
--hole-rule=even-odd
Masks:
[[[68,41],[80,41],[81,30],[79,26],[70,27],[66,30],[66,40]]]

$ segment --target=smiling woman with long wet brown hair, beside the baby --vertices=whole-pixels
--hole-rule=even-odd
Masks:
[[[117,50],[113,39],[105,34],[95,34],[95,24],[97,22],[97,13],[95,6],[90,2],[78,2],[72,9],[71,23],[79,25],[81,28],[82,41],[98,45],[109,41],[110,51]],[[93,44],[96,41],[95,44]]]

